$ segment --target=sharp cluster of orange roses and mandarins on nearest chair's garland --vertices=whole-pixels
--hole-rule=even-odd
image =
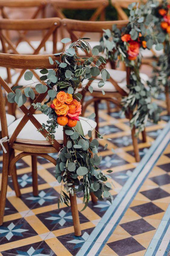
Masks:
[[[68,124],[68,126],[74,127],[79,121],[81,104],[76,99],[73,99],[72,94],[60,91],[50,107],[59,116],[57,121],[60,125]]]

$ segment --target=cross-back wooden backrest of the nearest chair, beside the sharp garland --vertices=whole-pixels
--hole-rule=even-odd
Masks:
[[[35,69],[39,67],[40,69],[47,68],[47,69],[55,69],[56,71],[56,64],[51,65],[49,63],[49,57],[51,57],[54,61],[60,59],[58,56],[54,55],[18,55],[18,54],[3,54],[0,53],[0,66],[1,67],[8,67],[8,68],[20,68],[20,69]],[[5,89],[7,93],[12,92],[11,88],[8,86],[8,84],[0,77],[0,84]],[[2,96],[2,87],[0,86],[0,100],[1,100],[1,107],[0,107],[0,120],[1,120],[1,126],[2,126],[2,137],[7,136],[8,137],[8,127],[7,127],[7,121],[6,121],[6,114],[5,114],[5,102]],[[48,87],[49,89],[49,87]],[[46,93],[39,94],[35,100],[34,103],[42,102],[45,97],[47,96],[48,90]],[[42,128],[42,125],[36,120],[36,118],[33,116],[33,113],[36,111],[36,109],[31,106],[29,109],[25,107],[25,105],[22,105],[20,107],[22,112],[24,113],[24,117],[18,124],[17,128],[14,130],[14,133],[11,136],[11,139],[9,141],[10,147],[12,147],[16,137],[20,133],[20,131],[23,129],[25,124],[30,120],[33,125],[36,127],[37,130]],[[46,134],[48,133],[46,130],[40,130],[41,134],[46,137]],[[49,140],[49,142],[52,144],[52,146],[59,151],[61,148],[61,145],[54,140],[53,143]]]

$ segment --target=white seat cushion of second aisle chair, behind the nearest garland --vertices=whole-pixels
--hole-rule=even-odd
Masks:
[[[129,89],[127,88],[127,83],[126,83],[126,71],[121,71],[121,70],[115,70],[115,69],[107,69],[111,77],[118,83],[118,85],[127,93],[129,93]],[[105,85],[101,88],[98,87],[98,83],[101,79],[100,76],[97,77],[98,79],[93,80],[93,82],[90,84],[93,87],[93,91],[101,92],[102,89],[105,92],[117,92],[116,88],[114,85],[106,81]],[[149,77],[146,74],[140,73],[140,78],[144,84],[146,84],[146,81],[149,80]],[[84,80],[83,81],[83,86],[85,86],[89,80]]]

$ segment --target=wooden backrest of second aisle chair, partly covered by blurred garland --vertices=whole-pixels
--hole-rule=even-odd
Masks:
[[[117,25],[117,28],[121,29],[125,27],[128,24],[128,20],[126,21],[77,21],[77,20],[71,20],[71,19],[62,19],[61,23],[62,25],[67,29],[67,31],[70,34],[71,40],[74,42],[78,39],[76,32],[81,31],[81,32],[93,32],[93,33],[103,33],[103,29],[110,29],[112,30],[113,25]],[[86,52],[86,55],[89,57],[92,57],[92,54],[88,54]],[[129,71],[127,68],[127,79],[129,81]],[[122,95],[125,96],[127,95],[124,90],[122,90],[121,87],[117,84],[117,82],[110,77],[108,79],[114,87],[118,90],[118,92]],[[90,81],[91,83],[92,81]],[[89,83],[89,84],[90,84]],[[88,85],[86,87],[88,89]]]

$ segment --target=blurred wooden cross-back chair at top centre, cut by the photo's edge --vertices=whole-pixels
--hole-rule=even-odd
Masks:
[[[90,17],[90,21],[96,21],[98,18],[101,21],[105,20],[105,8],[109,5],[108,0],[51,0],[51,4],[55,10],[56,16],[64,19],[66,18],[63,9],[68,10],[95,10]],[[64,38],[65,34],[61,27],[61,37]],[[83,37],[83,33],[77,33],[79,37]],[[96,42],[94,42],[95,45]]]

